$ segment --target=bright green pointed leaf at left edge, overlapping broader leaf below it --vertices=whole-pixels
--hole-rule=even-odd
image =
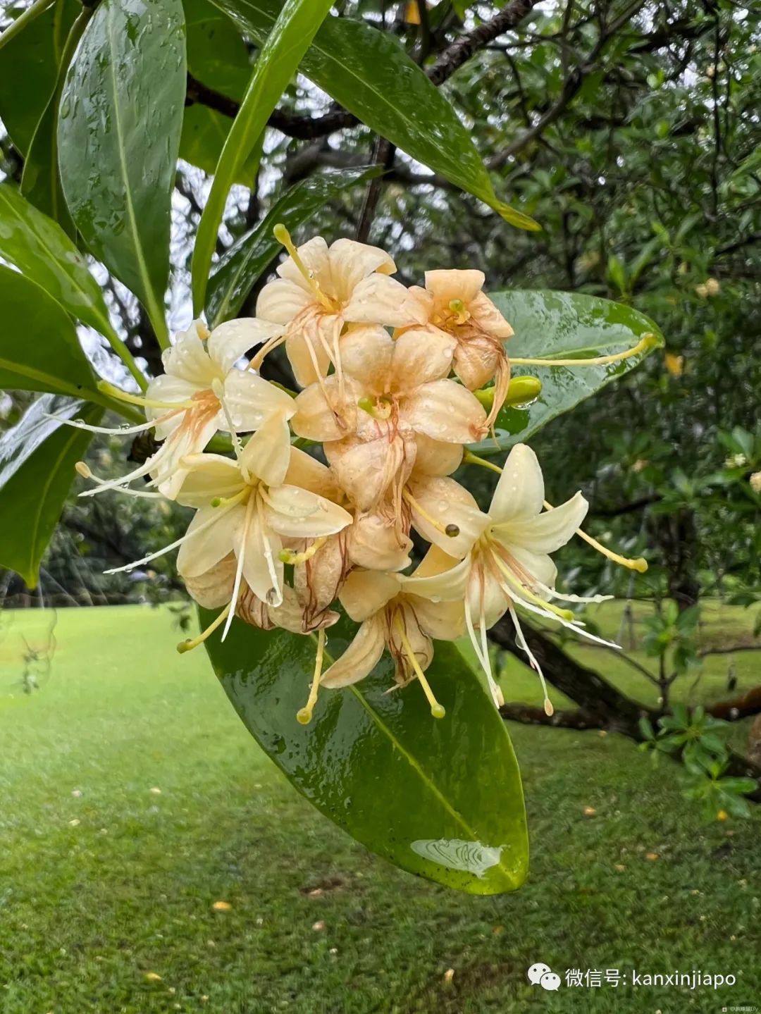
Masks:
[[[0,186],[0,255],[83,323],[108,335],[111,323],[100,286],[57,222]]]

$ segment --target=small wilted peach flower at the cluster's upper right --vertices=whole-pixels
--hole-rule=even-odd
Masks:
[[[513,329],[481,290],[482,271],[427,271],[426,288],[409,290],[408,306],[416,318],[451,335],[457,342],[453,367],[469,390],[477,390],[496,377],[493,405],[488,425],[493,423],[510,385],[510,360],[504,343]]]

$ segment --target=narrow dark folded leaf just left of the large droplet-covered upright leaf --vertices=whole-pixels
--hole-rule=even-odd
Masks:
[[[40,123],[34,129],[34,136],[29,145],[21,175],[21,193],[26,200],[58,222],[72,236],[75,233],[74,222],[66,206],[58,165],[59,105],[64,80],[74,51],[91,17],[92,8],[83,7],[69,30],[61,55],[56,85],[45,112],[40,118]]]

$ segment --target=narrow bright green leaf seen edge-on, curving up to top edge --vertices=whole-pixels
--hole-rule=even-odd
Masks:
[[[204,308],[209,270],[230,188],[329,9],[330,0],[286,0],[259,51],[240,110],[222,148],[199,223],[192,266],[197,314]]]

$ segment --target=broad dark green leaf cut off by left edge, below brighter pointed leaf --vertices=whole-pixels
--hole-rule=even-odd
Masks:
[[[35,282],[0,266],[0,389],[100,401],[71,318]]]

